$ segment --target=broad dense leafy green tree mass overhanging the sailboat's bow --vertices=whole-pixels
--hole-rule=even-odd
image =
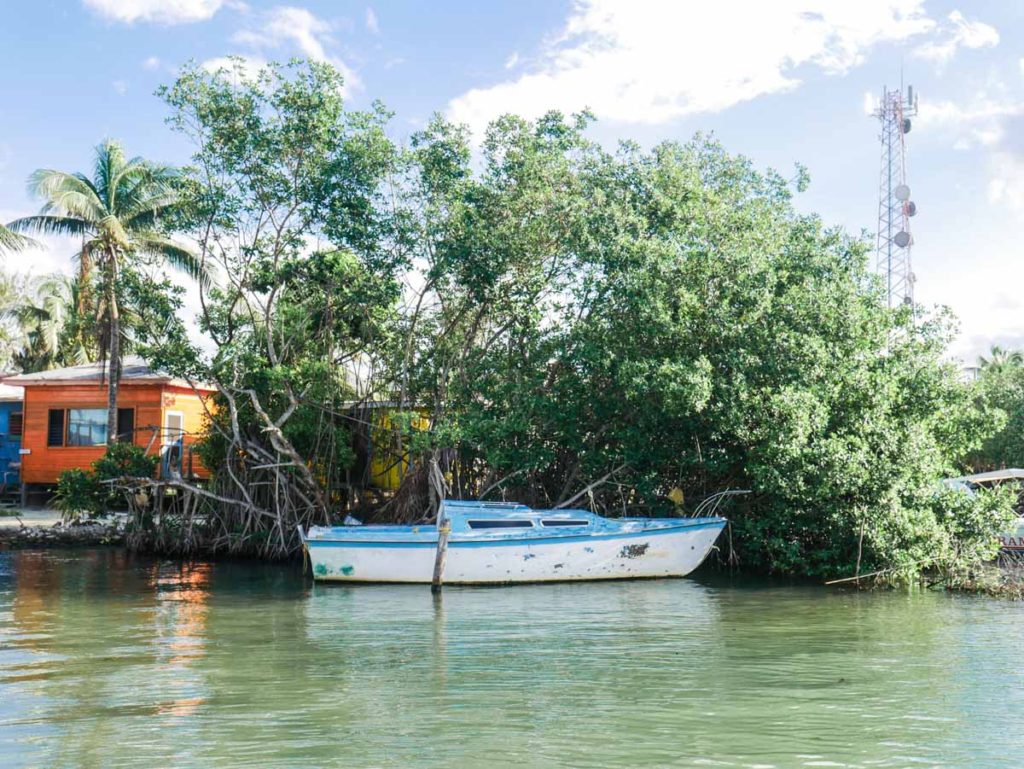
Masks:
[[[443,404],[462,466],[541,505],[613,473],[609,512],[749,487],[734,542],[761,570],[977,555],[1001,519],[935,489],[998,415],[942,361],[949,319],[886,308],[866,245],[776,174],[701,137],[610,155],[584,125],[503,119],[477,175],[457,131],[416,141],[444,303],[414,398]]]

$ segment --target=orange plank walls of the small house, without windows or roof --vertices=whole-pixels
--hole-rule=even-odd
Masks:
[[[150,454],[159,454],[163,444],[164,415],[167,411],[184,414],[185,442],[196,440],[205,429],[205,411],[198,395],[188,388],[162,384],[122,382],[118,405],[135,410],[135,440],[148,446]],[[25,388],[25,433],[22,447],[30,451],[22,456],[22,479],[26,483],[56,483],[63,470],[88,469],[101,457],[104,446],[48,446],[46,431],[50,409],[106,409],[106,386],[98,384],[29,385]],[[156,432],[156,439],[154,434]],[[151,445],[152,441],[152,445]],[[205,469],[197,470],[206,475]]]

